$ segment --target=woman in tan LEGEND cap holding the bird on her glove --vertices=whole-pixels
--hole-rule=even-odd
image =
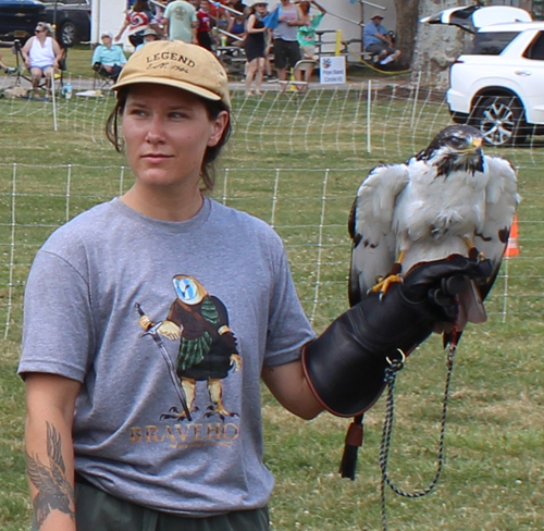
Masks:
[[[325,353],[277,235],[202,194],[231,127],[215,57],[150,42],[113,89],[108,136],[134,185],[55,231],[26,285],[34,529],[267,531],[259,379],[312,418],[323,400],[301,351],[312,373]]]

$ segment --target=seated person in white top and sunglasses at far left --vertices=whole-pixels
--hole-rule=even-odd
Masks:
[[[47,22],[38,22],[34,37],[30,37],[21,52],[27,69],[30,71],[33,92],[39,98],[39,82],[46,78],[46,99],[51,97],[51,79],[54,69],[59,69],[64,50],[52,37],[52,28]]]

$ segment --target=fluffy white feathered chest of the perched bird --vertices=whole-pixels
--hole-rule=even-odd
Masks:
[[[412,159],[409,180],[398,195],[393,218],[397,247],[421,239],[438,242],[447,237],[472,237],[485,221],[485,187],[482,172],[437,170]]]

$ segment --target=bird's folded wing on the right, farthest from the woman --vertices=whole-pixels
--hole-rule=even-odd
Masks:
[[[516,170],[503,157],[485,157],[485,171],[490,180],[485,189],[485,222],[475,235],[474,245],[493,263],[493,274],[479,281],[482,300],[487,296],[500,268],[510,226],[519,203]]]

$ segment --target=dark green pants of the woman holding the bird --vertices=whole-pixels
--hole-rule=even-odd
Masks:
[[[268,508],[208,518],[184,518],[118,499],[76,483],[77,531],[269,531]]]

